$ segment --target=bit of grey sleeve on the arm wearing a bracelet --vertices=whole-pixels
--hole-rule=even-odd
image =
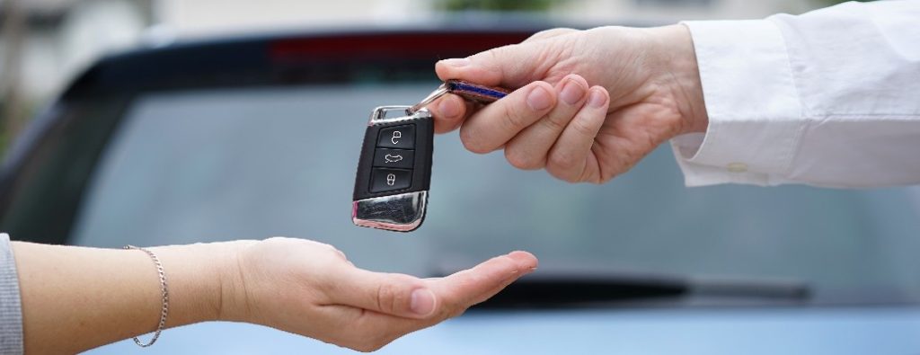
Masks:
[[[0,234],[0,354],[21,354],[22,303],[9,235]]]

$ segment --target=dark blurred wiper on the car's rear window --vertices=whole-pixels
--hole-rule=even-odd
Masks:
[[[601,303],[648,303],[691,298],[802,302],[805,281],[767,278],[683,277],[635,272],[571,272],[541,269],[515,281],[479,308],[556,308]]]

